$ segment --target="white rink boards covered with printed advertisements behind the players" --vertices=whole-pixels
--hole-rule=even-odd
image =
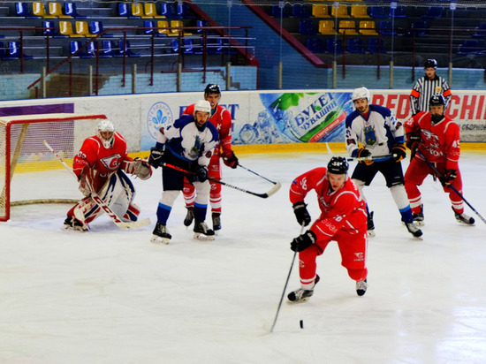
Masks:
[[[406,90],[370,90],[372,102],[399,119],[410,117]],[[232,113],[235,150],[248,153],[299,149],[344,150],[344,120],[353,90],[227,91],[221,104]],[[156,133],[171,125],[202,93],[71,97],[0,102],[0,116],[54,112],[105,114],[131,153],[147,152]],[[486,150],[486,91],[455,91],[446,114],[459,124],[462,148]],[[95,131],[93,131],[95,133]],[[332,144],[329,144],[332,143]]]

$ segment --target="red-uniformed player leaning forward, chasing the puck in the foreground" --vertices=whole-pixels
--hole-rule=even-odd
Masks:
[[[291,302],[303,302],[314,294],[319,282],[315,258],[323,254],[330,241],[338,242],[343,267],[356,281],[356,293],[365,294],[368,283],[367,212],[358,187],[347,176],[349,165],[343,156],[333,156],[324,167],[315,168],[295,178],[290,188],[293,212],[301,226],[311,222],[305,198],[315,190],[321,216],[311,228],[292,240],[291,249],[299,252],[300,288],[290,292]]]

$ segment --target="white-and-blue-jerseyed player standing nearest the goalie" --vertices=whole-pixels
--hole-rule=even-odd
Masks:
[[[148,163],[155,168],[163,167],[162,199],[157,207],[156,228],[150,239],[153,243],[169,244],[171,240],[167,220],[174,201],[184,188],[185,176],[193,183],[196,191],[194,239],[215,239],[215,231],[210,230],[204,222],[209,201],[208,164],[218,142],[216,126],[208,123],[210,113],[209,102],[196,102],[194,114],[183,115],[172,125],[161,128],[157,134],[156,147],[150,149]]]

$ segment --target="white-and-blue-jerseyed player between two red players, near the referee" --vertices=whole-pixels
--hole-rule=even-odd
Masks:
[[[406,196],[401,160],[406,157],[404,128],[391,110],[370,104],[371,97],[366,87],[359,87],[352,95],[355,110],[346,118],[346,149],[352,157],[368,157],[361,160],[351,178],[360,188],[361,197],[366,201],[363,187],[369,186],[376,173],[383,174],[386,186],[399,208],[402,222],[406,229],[419,238],[422,232],[414,224],[414,216]],[[377,155],[391,157],[373,160]],[[369,211],[368,235],[375,236],[373,212]]]

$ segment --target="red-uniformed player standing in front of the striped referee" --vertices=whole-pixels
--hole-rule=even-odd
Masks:
[[[464,214],[464,201],[451,188],[462,194],[462,179],[459,171],[459,125],[444,116],[444,96],[432,95],[429,111],[421,111],[406,121],[406,146],[412,151],[410,164],[405,173],[405,189],[416,224],[423,225],[421,186],[427,175],[439,177],[444,192],[449,193],[454,216],[459,223],[475,224],[473,217]],[[436,176],[429,164],[433,163],[442,175]]]

